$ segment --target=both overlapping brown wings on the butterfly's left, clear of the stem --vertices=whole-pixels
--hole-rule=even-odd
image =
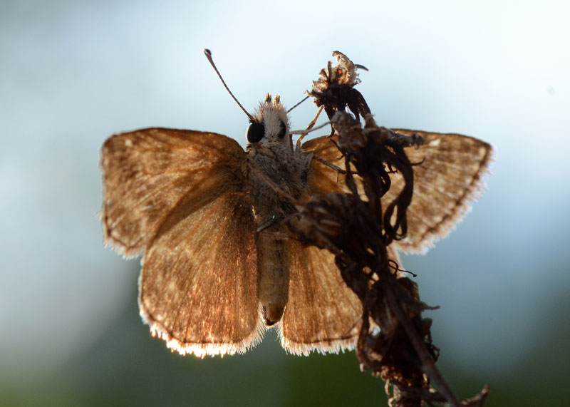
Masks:
[[[103,145],[105,242],[145,250],[140,314],[182,354],[260,339],[257,247],[244,150],[224,135],[149,128]]]

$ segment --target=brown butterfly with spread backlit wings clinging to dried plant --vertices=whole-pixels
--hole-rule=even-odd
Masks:
[[[126,257],[143,253],[140,314],[180,354],[241,353],[274,325],[293,354],[351,349],[361,303],[333,254],[288,238],[281,222],[296,212],[293,200],[348,192],[323,163],[343,168],[335,137],[294,145],[279,96],[249,117],[245,150],[225,135],[169,128],[106,140],[105,243]],[[421,165],[408,235],[388,247],[397,261],[397,251],[424,251],[465,215],[492,150],[464,135],[395,131],[425,138],[408,148]],[[386,200],[402,182],[393,175]]]

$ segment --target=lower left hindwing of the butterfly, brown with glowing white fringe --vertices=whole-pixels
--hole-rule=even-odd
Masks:
[[[244,352],[261,339],[247,195],[227,192],[162,228],[145,254],[140,313],[181,354]]]

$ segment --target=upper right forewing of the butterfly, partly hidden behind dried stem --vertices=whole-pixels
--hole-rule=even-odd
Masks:
[[[428,133],[420,130],[395,130],[405,135],[420,135],[420,148],[406,148],[414,166],[414,193],[408,207],[408,234],[393,242],[403,252],[424,252],[435,240],[445,237],[482,192],[484,175],[492,158],[492,148],[476,138],[457,134]],[[333,138],[334,139],[334,138]],[[344,159],[327,137],[309,140],[304,150],[344,169]],[[316,163],[331,182],[343,183],[337,172]],[[392,185],[383,202],[393,200],[403,188],[400,174],[390,175]],[[343,185],[346,190],[346,186]]]

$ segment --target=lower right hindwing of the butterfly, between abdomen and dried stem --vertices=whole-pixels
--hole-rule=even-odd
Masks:
[[[336,172],[313,160],[306,196],[343,192],[331,174]],[[343,281],[334,254],[304,247],[294,239],[289,244],[289,301],[281,320],[282,346],[299,355],[352,349],[361,327],[362,305]],[[398,254],[389,249],[389,257],[397,260]]]

